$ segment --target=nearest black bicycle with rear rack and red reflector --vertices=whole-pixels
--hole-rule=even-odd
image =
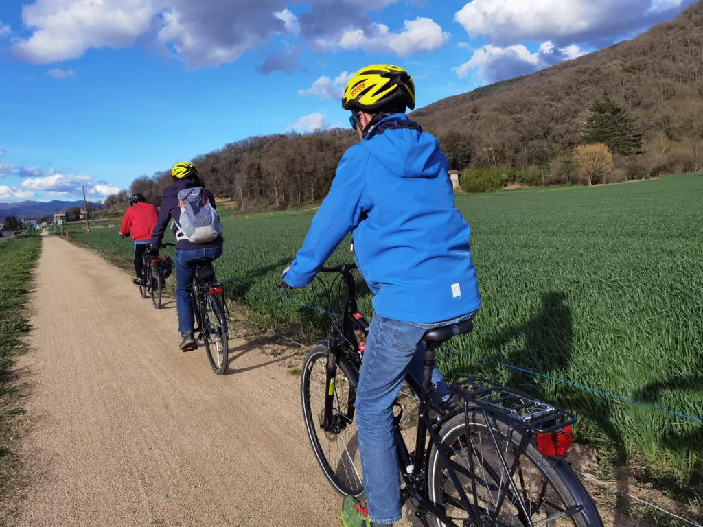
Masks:
[[[304,360],[301,396],[307,434],[325,477],[338,493],[359,496],[363,474],[354,401],[368,323],[356,306],[355,268],[343,263],[322,270],[342,275],[348,298],[331,339],[320,341]],[[406,379],[420,407],[412,453],[401,433],[403,407],[395,403],[403,501],[412,500],[425,527],[602,527],[593,500],[565,460],[574,415],[468,376],[457,376],[449,386],[462,403],[454,410],[430,400],[437,348],[472,329],[468,320],[423,337],[423,382]]]

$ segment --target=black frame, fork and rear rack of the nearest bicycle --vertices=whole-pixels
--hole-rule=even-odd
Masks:
[[[330,341],[321,341],[321,344],[328,346],[329,353],[326,368],[326,386],[328,386],[328,389],[325,393],[325,408],[321,416],[320,426],[331,434],[339,434],[340,431],[347,426],[347,423],[354,420],[354,401],[356,399],[355,389],[350,389],[347,410],[349,413],[344,416],[344,419],[342,419],[340,415],[333,415],[337,363],[340,361],[349,361],[356,367],[356,370],[353,368],[351,370],[359,371],[363,358],[363,349],[360,349],[357,345],[358,341],[356,335],[358,332],[361,332],[364,337],[368,337],[369,324],[358,312],[356,304],[356,281],[351,273],[354,268],[356,268],[355,265],[342,263],[342,265],[337,268],[323,268],[322,270],[325,273],[341,273],[342,279],[345,285],[347,285],[347,289],[349,289],[349,296],[344,308],[342,322],[333,323],[334,332]],[[515,451],[514,460],[509,467],[506,455],[502,452],[500,445],[498,445],[496,434],[490,426],[488,427],[491,441],[500,458],[501,475],[505,474],[505,481],[509,482],[509,484],[501,484],[495,514],[496,516],[499,514],[506,499],[514,504],[517,502],[517,507],[520,509],[524,519],[527,520],[530,527],[533,527],[534,523],[532,523],[530,519],[530,514],[528,514],[522,497],[520,496],[520,490],[517,488],[513,479],[517,470],[520,469],[520,459],[527,449],[527,446],[536,437],[536,434],[548,434],[563,429],[574,424],[576,422],[576,417],[568,412],[553,408],[546,403],[526,396],[523,393],[508,389],[505,386],[501,386],[486,379],[470,377],[456,377],[449,386],[450,393],[463,399],[463,408],[453,410],[449,413],[444,412],[444,410],[437,407],[437,405],[434,405],[430,399],[433,391],[432,367],[434,366],[435,352],[434,346],[427,346],[422,385],[418,384],[413,377],[409,375],[406,377],[406,382],[410,386],[411,391],[413,391],[415,396],[419,396],[420,398],[420,415],[415,438],[414,456],[408,452],[407,445],[401,434],[400,420],[403,415],[402,407],[399,415],[394,417],[396,451],[401,474],[406,485],[402,490],[403,502],[411,498],[417,502],[418,507],[415,516],[420,519],[425,527],[430,527],[429,523],[427,523],[428,514],[431,514],[448,527],[492,527],[496,524],[496,519],[489,523],[489,517],[486,516],[478,504],[476,477],[474,476],[474,455],[476,455],[477,460],[482,460],[482,456],[476,451],[473,443],[468,441],[470,448],[472,448],[472,453],[468,456],[470,466],[467,472],[465,467],[461,467],[459,464],[449,460],[449,456],[444,448],[442,448],[441,438],[439,436],[439,430],[449,419],[463,413],[465,415],[465,434],[466,437],[469,438],[471,436],[469,429],[469,413],[480,411],[486,419],[486,423],[489,423],[491,418],[497,416],[502,422],[508,424],[508,441],[512,441],[512,434],[522,434],[522,439]],[[359,379],[350,380],[352,380],[354,384],[359,381]],[[430,410],[436,412],[440,417],[430,419]],[[430,437],[429,445],[427,445],[427,436]],[[437,448],[437,452],[444,463],[444,467],[446,467],[447,475],[458,492],[459,501],[457,502],[456,498],[451,498],[451,500],[453,500],[452,505],[465,510],[469,516],[468,519],[462,521],[461,526],[446,515],[446,510],[443,506],[435,504],[427,497],[429,477],[427,467],[430,464],[432,445]],[[485,465],[486,464],[482,462],[484,468],[486,468]],[[458,472],[471,479],[473,500],[470,500],[465,493],[463,485],[459,480]],[[495,481],[503,481],[501,475],[491,474],[491,477],[493,477]],[[520,477],[522,478],[522,471],[520,471]],[[546,500],[545,491],[546,486],[543,488],[542,495],[536,503],[538,508],[542,507]],[[557,516],[576,514],[580,512],[582,508],[583,507],[576,505]]]

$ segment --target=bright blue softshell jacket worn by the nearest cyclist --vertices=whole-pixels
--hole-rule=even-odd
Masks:
[[[405,114],[379,122],[344,153],[285,282],[308,285],[344,237],[385,318],[450,320],[481,305],[471,230],[454,207],[439,141]]]

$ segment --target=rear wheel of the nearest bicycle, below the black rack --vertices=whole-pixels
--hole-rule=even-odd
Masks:
[[[486,525],[602,527],[593,500],[571,467],[541,455],[532,441],[520,448],[522,433],[501,419],[489,415],[486,421],[483,412],[470,411],[468,427],[465,416],[458,415],[444,424],[440,437],[469,509]],[[428,474],[430,500],[458,525],[470,519],[437,445],[432,446]],[[431,517],[433,527],[446,527]]]

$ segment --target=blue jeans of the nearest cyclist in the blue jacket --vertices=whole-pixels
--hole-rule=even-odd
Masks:
[[[423,335],[435,327],[474,318],[469,313],[434,324],[399,322],[375,315],[363,353],[356,391],[356,427],[368,513],[374,523],[387,525],[401,519],[400,474],[393,436],[393,403],[406,375],[423,379]],[[448,386],[437,365],[432,372],[437,386],[435,401],[446,396]]]

